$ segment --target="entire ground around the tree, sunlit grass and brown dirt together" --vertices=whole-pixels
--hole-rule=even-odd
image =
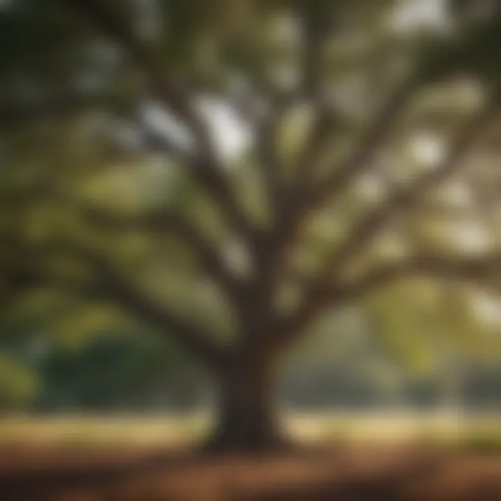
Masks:
[[[501,501],[495,417],[289,415],[294,452],[218,459],[186,447],[206,427],[204,416],[2,420],[0,500]]]

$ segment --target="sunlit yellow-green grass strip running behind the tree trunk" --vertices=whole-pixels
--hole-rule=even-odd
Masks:
[[[350,415],[288,413],[285,428],[304,443],[419,442],[471,450],[501,451],[501,417],[410,414]],[[131,443],[178,445],[202,438],[209,415],[9,417],[0,420],[0,445],[41,443]]]

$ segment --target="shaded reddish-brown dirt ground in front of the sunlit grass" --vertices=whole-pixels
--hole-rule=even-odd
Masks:
[[[2,501],[501,501],[501,456],[350,446],[211,459],[152,447],[3,445]]]

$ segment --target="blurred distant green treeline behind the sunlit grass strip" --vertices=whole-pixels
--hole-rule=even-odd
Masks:
[[[79,349],[39,347],[35,354],[9,346],[3,353],[24,364],[37,383],[29,398],[0,394],[5,410],[182,411],[207,406],[213,396],[207,374],[152,337],[102,337]],[[299,408],[501,408],[501,367],[456,366],[454,372],[426,378],[394,373],[390,383],[383,383],[362,370],[363,363],[367,360],[286,364],[278,375],[278,397],[284,405]]]

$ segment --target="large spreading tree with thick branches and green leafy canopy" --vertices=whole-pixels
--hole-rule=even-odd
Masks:
[[[501,11],[453,2],[417,30],[404,3],[3,8],[1,33],[16,40],[2,61],[16,166],[2,174],[6,297],[60,289],[172,337],[218,381],[212,445],[262,450],[280,443],[278,360],[325,312],[409,276],[496,287],[495,248],[452,252],[407,230],[437,211],[457,216],[443,184],[496,154]],[[207,100],[252,132],[239,159],[215,144]],[[151,103],[161,125],[139,113]],[[88,133],[97,118],[99,136]],[[168,189],[120,207],[126,168],[126,189],[141,188],[158,158]],[[108,182],[101,198],[89,195],[89,166]],[[376,200],[360,196],[367,180]],[[391,259],[388,235],[404,248]],[[212,301],[205,312],[195,291]]]

